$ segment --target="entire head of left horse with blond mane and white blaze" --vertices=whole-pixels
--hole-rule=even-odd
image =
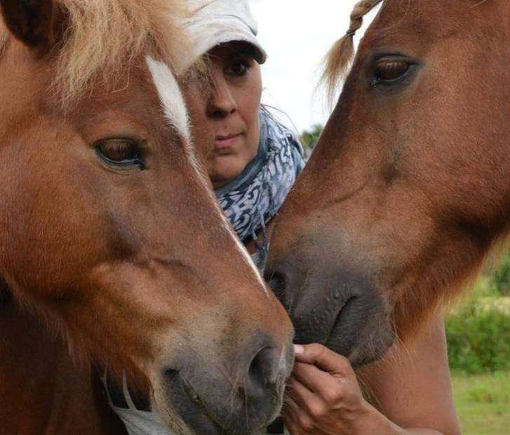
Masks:
[[[247,433],[293,329],[190,147],[179,4],[0,1],[0,277],[82,360],[149,382],[175,433]]]

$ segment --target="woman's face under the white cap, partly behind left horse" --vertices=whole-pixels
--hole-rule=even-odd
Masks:
[[[188,99],[195,144],[214,188],[236,178],[257,155],[262,78],[246,43],[210,50],[210,88]]]

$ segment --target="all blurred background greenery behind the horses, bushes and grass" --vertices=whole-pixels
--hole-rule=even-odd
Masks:
[[[308,157],[323,127],[300,139]],[[510,435],[510,251],[445,317],[457,415],[464,435]]]

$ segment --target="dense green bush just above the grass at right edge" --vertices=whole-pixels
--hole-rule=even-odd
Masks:
[[[497,304],[475,302],[450,315],[446,319],[446,336],[453,370],[466,373],[510,370],[510,315]]]

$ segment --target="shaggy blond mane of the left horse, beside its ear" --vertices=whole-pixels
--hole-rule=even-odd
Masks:
[[[180,0],[55,0],[65,17],[53,88],[64,103],[81,95],[95,79],[115,83],[135,57],[152,50],[177,69],[187,53]],[[0,25],[1,47],[8,40]]]

